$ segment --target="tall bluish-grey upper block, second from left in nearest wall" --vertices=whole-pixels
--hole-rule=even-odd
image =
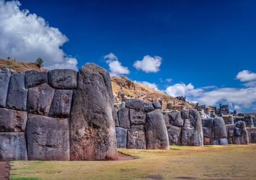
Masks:
[[[25,89],[24,73],[12,74],[8,90],[6,106],[16,110],[26,110],[28,89]]]

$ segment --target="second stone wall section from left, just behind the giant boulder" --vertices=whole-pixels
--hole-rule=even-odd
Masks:
[[[129,99],[115,110],[117,146],[127,149],[169,149],[160,102]]]

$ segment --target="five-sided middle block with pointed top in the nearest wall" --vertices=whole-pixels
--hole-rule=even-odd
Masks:
[[[48,115],[54,91],[55,90],[47,83],[29,88],[28,112],[33,114]]]

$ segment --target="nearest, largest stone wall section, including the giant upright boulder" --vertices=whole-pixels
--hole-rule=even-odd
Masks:
[[[116,158],[105,69],[86,64],[78,73],[0,71],[0,160]]]

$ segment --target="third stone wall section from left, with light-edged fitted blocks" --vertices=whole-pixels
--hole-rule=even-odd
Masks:
[[[170,145],[203,146],[203,127],[197,110],[173,110],[164,114]]]

